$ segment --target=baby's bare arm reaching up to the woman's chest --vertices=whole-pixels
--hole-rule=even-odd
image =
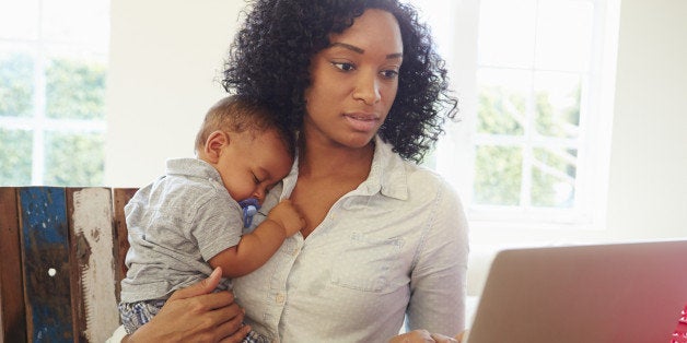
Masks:
[[[301,230],[305,220],[290,200],[278,203],[252,233],[234,247],[210,259],[212,268],[222,268],[224,277],[242,276],[260,268],[287,239]]]

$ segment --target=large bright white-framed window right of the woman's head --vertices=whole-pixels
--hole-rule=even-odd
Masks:
[[[431,164],[471,223],[603,225],[617,1],[414,2],[461,102]]]

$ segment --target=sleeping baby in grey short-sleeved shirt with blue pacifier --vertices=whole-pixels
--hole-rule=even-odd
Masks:
[[[242,235],[253,213],[242,211],[240,202],[259,208],[293,164],[294,138],[273,118],[249,98],[221,99],[198,132],[197,158],[167,161],[165,175],[126,205],[131,247],[119,310],[127,333],[150,321],[175,289],[206,279],[217,267],[228,277],[218,288],[230,288],[230,277],[261,267],[304,226],[293,204],[282,200]],[[256,332],[244,339],[266,341]]]

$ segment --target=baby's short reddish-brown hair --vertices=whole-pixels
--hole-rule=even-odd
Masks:
[[[217,130],[224,132],[244,132],[254,130],[265,132],[275,129],[281,137],[287,151],[295,155],[295,133],[284,129],[277,120],[277,114],[258,100],[242,96],[230,95],[217,102],[208,113],[196,134],[196,153],[205,149],[210,133]]]

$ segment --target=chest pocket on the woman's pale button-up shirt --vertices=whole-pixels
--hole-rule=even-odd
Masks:
[[[397,237],[351,233],[340,253],[333,258],[331,283],[362,292],[392,292],[403,244],[404,240]]]

